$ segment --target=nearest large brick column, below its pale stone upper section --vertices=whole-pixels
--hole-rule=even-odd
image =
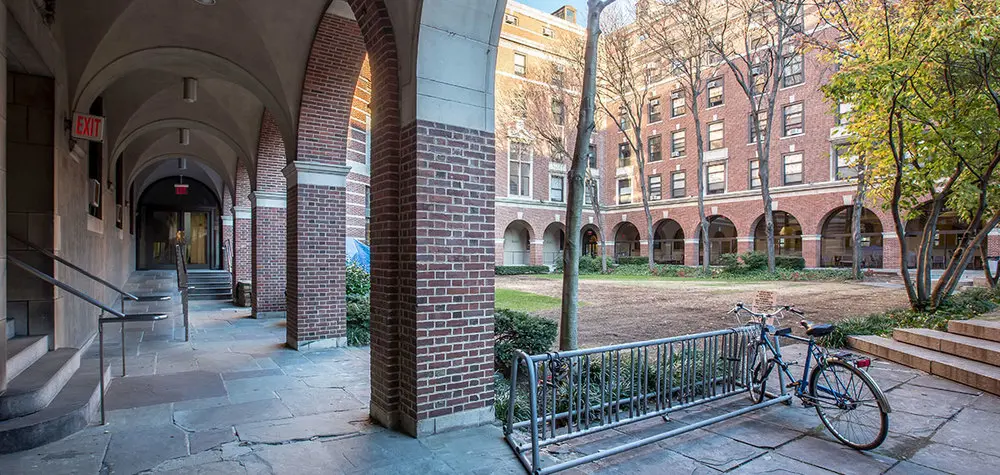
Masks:
[[[391,322],[397,344],[372,344],[371,414],[420,436],[493,420],[494,139],[425,120],[401,136],[399,258],[373,263],[397,273],[398,311],[372,305],[373,338]],[[376,247],[388,238],[373,234]],[[393,380],[376,361],[395,363]]]

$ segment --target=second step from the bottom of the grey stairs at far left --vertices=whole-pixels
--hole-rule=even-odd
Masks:
[[[80,351],[77,349],[46,353],[7,385],[7,392],[0,396],[0,421],[45,409],[79,367]]]

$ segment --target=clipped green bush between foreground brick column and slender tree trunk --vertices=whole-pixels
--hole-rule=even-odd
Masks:
[[[496,371],[504,376],[510,376],[510,362],[515,351],[521,350],[529,355],[544,353],[552,349],[556,341],[556,322],[503,308],[496,309],[494,316],[494,365]]]

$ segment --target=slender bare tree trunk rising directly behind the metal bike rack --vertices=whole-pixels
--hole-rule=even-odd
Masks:
[[[613,0],[610,0],[613,1]],[[576,147],[569,172],[566,200],[566,247],[563,250],[562,309],[559,321],[559,349],[575,350],[577,339],[580,286],[580,233],[583,227],[583,201],[590,145],[594,130],[594,96],[597,90],[597,42],[601,35],[601,11],[609,0],[588,0],[587,46],[584,51],[583,91],[577,122]],[[596,199],[596,197],[595,197]],[[603,231],[602,231],[603,234]]]

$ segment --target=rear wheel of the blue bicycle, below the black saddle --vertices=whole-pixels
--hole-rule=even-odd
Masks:
[[[871,376],[838,360],[826,361],[809,375],[809,396],[823,425],[844,445],[871,450],[889,433],[885,396]]]

